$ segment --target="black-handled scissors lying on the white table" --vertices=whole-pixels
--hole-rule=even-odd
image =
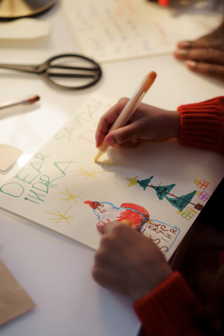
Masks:
[[[0,64],[0,68],[41,75],[51,86],[64,90],[88,88],[96,84],[102,76],[98,63],[79,54],[56,55],[38,65]]]

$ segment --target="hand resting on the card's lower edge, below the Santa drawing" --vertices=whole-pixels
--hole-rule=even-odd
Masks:
[[[103,234],[92,269],[101,286],[138,300],[172,274],[164,255],[141,226],[121,222],[98,223]]]

